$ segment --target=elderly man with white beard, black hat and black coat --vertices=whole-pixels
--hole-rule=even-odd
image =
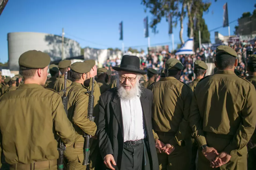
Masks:
[[[158,170],[152,131],[152,92],[139,80],[137,56],[124,55],[118,71],[117,87],[100,97],[97,137],[106,169]]]

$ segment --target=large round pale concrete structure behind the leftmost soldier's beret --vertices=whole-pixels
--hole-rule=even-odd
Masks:
[[[28,50],[40,50],[48,53],[51,61],[61,59],[62,37],[46,33],[16,32],[8,33],[9,69],[18,70],[20,55]],[[78,42],[64,38],[64,58],[79,56]]]

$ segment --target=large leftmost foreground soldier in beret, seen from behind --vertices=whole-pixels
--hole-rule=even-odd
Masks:
[[[0,137],[5,161],[11,170],[56,170],[59,153],[54,136],[57,132],[69,146],[75,141],[75,130],[61,96],[43,88],[50,56],[30,50],[21,54],[18,63],[24,84],[0,98]]]

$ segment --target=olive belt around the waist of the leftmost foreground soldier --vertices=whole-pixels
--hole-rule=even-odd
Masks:
[[[50,169],[50,167],[57,165],[57,159],[32,162],[30,164],[17,163],[10,165],[14,169],[19,170],[34,170],[34,169]]]

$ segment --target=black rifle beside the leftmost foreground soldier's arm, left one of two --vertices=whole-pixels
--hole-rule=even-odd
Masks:
[[[62,98],[62,103],[64,105],[65,112],[68,115],[68,97],[66,96],[67,78],[68,78],[68,72],[65,72],[64,73],[64,93],[61,98]],[[63,170],[64,151],[65,150],[66,150],[66,146],[60,139],[60,145],[58,147],[58,151],[59,151],[58,170]]]

